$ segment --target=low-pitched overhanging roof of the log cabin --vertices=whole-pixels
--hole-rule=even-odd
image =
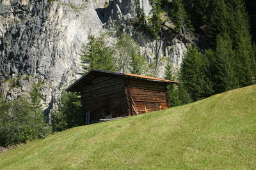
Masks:
[[[179,82],[177,81],[172,81],[172,80],[166,80],[163,78],[156,78],[156,77],[151,77],[151,76],[142,76],[139,74],[131,74],[131,73],[119,73],[119,72],[114,72],[114,71],[104,71],[104,70],[100,70],[100,69],[92,69],[91,71],[88,71],[88,73],[84,74],[81,78],[79,78],[75,83],[73,83],[72,85],[70,85],[70,87],[68,87],[66,89],[66,91],[76,91],[74,89],[76,89],[76,87],[79,87],[79,85],[81,85],[81,83],[83,83],[86,80],[90,79],[90,76],[92,76],[92,74],[95,75],[106,75],[106,76],[119,76],[119,77],[123,77],[123,78],[137,78],[139,80],[146,80],[146,81],[159,81],[162,83],[175,83],[175,84],[179,84]]]

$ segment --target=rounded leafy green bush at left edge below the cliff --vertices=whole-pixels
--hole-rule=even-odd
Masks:
[[[37,115],[31,111],[28,99],[4,101],[0,104],[0,145],[8,146],[26,143],[31,139],[42,138],[47,129],[46,124],[38,124]]]

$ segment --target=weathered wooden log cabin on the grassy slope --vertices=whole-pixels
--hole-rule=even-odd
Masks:
[[[176,81],[92,69],[68,87],[80,92],[86,124],[104,118],[139,115],[169,108],[166,86]]]

